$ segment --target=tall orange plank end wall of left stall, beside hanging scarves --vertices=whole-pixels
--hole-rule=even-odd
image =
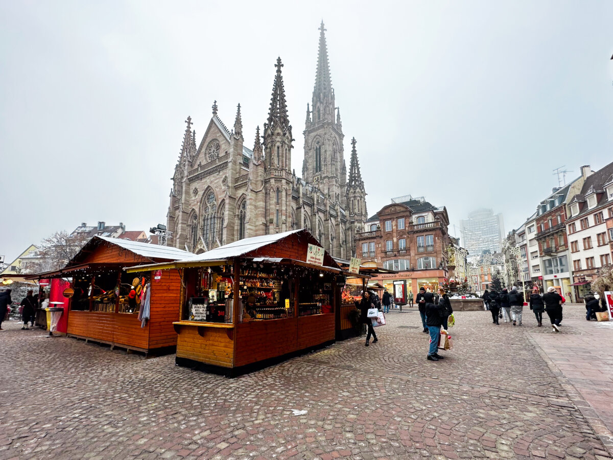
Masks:
[[[149,348],[177,345],[172,322],[181,319],[181,277],[179,270],[161,270],[161,273],[161,280],[151,281]]]

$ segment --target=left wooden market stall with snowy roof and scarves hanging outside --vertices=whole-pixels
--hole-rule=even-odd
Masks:
[[[172,351],[177,343],[172,322],[180,304],[177,270],[128,274],[137,264],[174,261],[194,256],[187,251],[130,240],[94,236],[64,267],[35,275],[51,278],[65,302],[58,331],[112,347],[142,351]],[[61,279],[70,282],[61,283]],[[57,281],[56,281],[57,280]],[[53,286],[53,285],[52,285]]]

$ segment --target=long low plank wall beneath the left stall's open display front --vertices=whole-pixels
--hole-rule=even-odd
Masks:
[[[143,350],[149,348],[149,324],[141,328],[136,313],[71,310],[68,313],[67,334]]]

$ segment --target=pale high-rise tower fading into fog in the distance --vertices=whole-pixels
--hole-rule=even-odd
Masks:
[[[502,214],[492,209],[477,209],[460,220],[463,246],[470,256],[479,256],[483,251],[500,252],[504,237]]]

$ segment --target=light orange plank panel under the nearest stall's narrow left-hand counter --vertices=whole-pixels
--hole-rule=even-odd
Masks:
[[[213,366],[232,367],[234,329],[206,326],[179,326],[177,358],[206,362]],[[198,334],[198,330],[202,335]]]

